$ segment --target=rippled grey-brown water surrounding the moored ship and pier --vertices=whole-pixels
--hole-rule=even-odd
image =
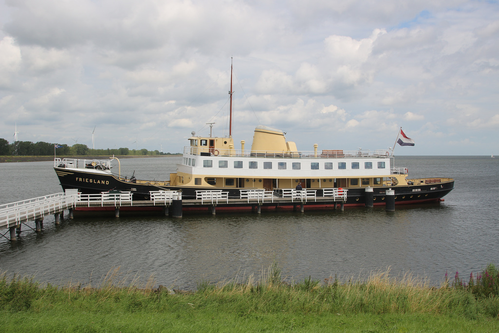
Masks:
[[[180,159],[124,159],[121,173],[168,179]],[[158,284],[194,289],[201,281],[257,275],[274,261],[295,280],[358,277],[390,267],[393,275],[410,271],[436,285],[446,271],[467,276],[499,265],[499,159],[418,156],[396,163],[409,167],[411,177],[455,178],[455,189],[441,204],[397,206],[390,213],[347,207],[184,213],[182,219],[122,214],[77,216],[60,226],[49,216],[41,234],[23,226],[17,242],[0,241],[0,270],[64,285],[98,282],[120,266],[144,280],[155,275]],[[61,192],[52,162],[2,163],[0,171],[0,203]]]

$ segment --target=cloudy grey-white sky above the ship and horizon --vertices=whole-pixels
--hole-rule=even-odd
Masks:
[[[0,0],[0,138],[181,152],[255,126],[299,150],[499,155],[499,3]]]

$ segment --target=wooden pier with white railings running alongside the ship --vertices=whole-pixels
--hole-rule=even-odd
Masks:
[[[73,210],[112,210],[119,217],[120,208],[158,210],[162,209],[166,216],[182,217],[183,210],[208,209],[211,214],[216,209],[251,209],[257,213],[261,208],[293,207],[301,212],[305,205],[316,206],[331,205],[343,210],[347,198],[347,191],[330,189],[324,192],[324,197],[317,197],[315,190],[278,189],[278,191],[246,190],[241,191],[240,198],[229,198],[228,192],[223,191],[197,191],[196,199],[182,200],[182,193],[175,191],[152,191],[150,200],[133,201],[130,192],[104,192],[101,194],[81,194],[77,190],[66,190],[66,193],[56,193],[43,197],[17,201],[0,205],[0,236],[10,241],[16,240],[16,233],[21,231],[21,226],[36,232],[41,231],[43,218],[54,215],[55,224],[59,224],[64,211],[67,210],[69,218],[73,218]],[[26,225],[34,221],[35,228]],[[3,233],[1,230],[6,229]],[[5,235],[10,233],[10,237]]]

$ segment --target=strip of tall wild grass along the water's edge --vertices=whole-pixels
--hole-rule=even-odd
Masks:
[[[488,272],[493,273],[492,267]],[[491,275],[489,273],[489,276]],[[497,271],[494,271],[497,275]],[[113,268],[95,285],[41,285],[33,277],[0,275],[0,310],[8,313],[52,309],[89,313],[175,313],[194,309],[250,314],[431,314],[451,317],[498,318],[499,297],[482,275],[468,285],[444,282],[440,288],[410,273],[392,277],[390,270],[372,272],[366,279],[330,277],[324,281],[288,282],[277,264],[253,274],[217,283],[202,282],[196,292],[155,288],[154,277],[122,275]],[[498,277],[499,279],[499,277]],[[126,283],[125,281],[131,281]],[[496,280],[494,280],[496,281]],[[496,283],[496,282],[495,282]],[[485,286],[479,292],[477,285]]]

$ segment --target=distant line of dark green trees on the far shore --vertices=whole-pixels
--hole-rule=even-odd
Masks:
[[[49,143],[49,142],[31,142],[31,141],[15,141],[8,143],[5,139],[0,139],[0,155],[2,156],[49,156],[54,154],[65,156],[82,156],[82,155],[175,155],[171,153],[163,153],[159,150],[147,149],[91,149],[87,145],[77,143],[72,146],[67,144]]]

